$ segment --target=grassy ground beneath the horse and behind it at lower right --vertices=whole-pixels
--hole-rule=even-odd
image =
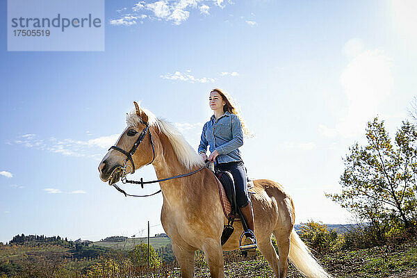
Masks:
[[[338,278],[416,278],[417,243],[337,252],[320,256],[319,261],[330,274]],[[210,277],[206,265],[197,265],[195,272],[196,277]],[[275,277],[268,262],[259,254],[247,260],[226,263],[224,273],[229,278]],[[181,277],[181,275],[178,268],[172,268],[165,274],[154,277]],[[291,265],[288,278],[302,277]]]

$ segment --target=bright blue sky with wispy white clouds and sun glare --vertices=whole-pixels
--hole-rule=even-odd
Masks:
[[[104,51],[7,51],[0,11],[0,241],[163,232],[162,196],[124,197],[97,166],[133,101],[197,149],[222,88],[254,133],[250,177],[284,186],[296,223],[354,218],[325,197],[366,122],[391,138],[417,88],[416,1],[106,1]],[[152,166],[132,178],[154,179]],[[129,193],[145,189],[122,186]]]

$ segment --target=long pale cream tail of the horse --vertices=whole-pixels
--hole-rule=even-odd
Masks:
[[[326,270],[316,261],[307,247],[293,229],[291,232],[290,261],[309,278],[332,278]]]

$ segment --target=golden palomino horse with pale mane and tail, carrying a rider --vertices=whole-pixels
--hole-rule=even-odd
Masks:
[[[134,104],[135,111],[126,116],[126,129],[99,165],[102,181],[116,183],[122,176],[122,169],[130,167],[134,171],[149,163],[154,166],[158,179],[192,172],[204,165],[201,156],[174,126],[157,119],[136,102]],[[142,140],[138,140],[147,126],[149,130]],[[141,141],[139,145],[136,144],[138,141]],[[129,158],[129,149],[133,148],[135,151],[130,152]],[[224,277],[222,251],[238,249],[243,229],[240,222],[235,222],[234,233],[227,243],[221,245],[220,238],[227,219],[222,211],[214,174],[204,167],[187,177],[160,182],[160,186],[163,194],[161,222],[172,239],[172,250],[181,267],[181,276],[194,277],[195,251],[202,250],[211,277]],[[306,277],[331,277],[293,229],[294,204],[284,188],[275,181],[258,179],[254,181],[252,191],[255,193],[252,204],[258,247],[275,275],[286,277],[289,256]],[[271,243],[272,234],[277,239],[279,257]]]

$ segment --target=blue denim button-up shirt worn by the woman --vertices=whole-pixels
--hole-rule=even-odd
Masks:
[[[205,154],[208,145],[210,152],[217,149],[219,153],[216,158],[217,163],[242,161],[238,147],[243,145],[243,131],[238,116],[226,112],[215,120],[212,115],[203,126],[198,153]]]

